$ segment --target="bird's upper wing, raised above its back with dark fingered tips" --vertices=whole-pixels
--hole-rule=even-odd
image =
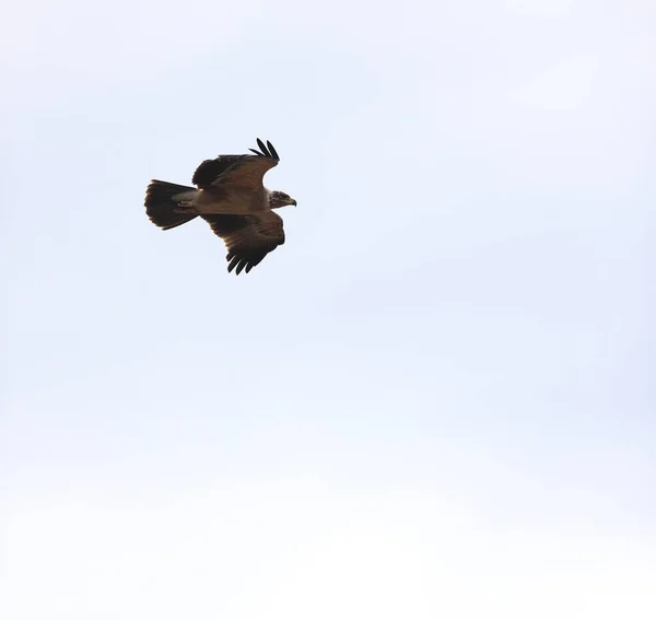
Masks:
[[[206,160],[196,168],[191,183],[200,189],[234,185],[258,189],[267,171],[278,165],[280,157],[271,142],[266,144],[258,138],[259,151],[255,155],[220,155]]]

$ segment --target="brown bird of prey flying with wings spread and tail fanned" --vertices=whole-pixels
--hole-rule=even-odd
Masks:
[[[191,183],[196,187],[152,180],[145,191],[151,222],[167,231],[201,217],[227,248],[227,271],[248,273],[284,243],[282,219],[272,211],[296,201],[284,191],[270,191],[262,178],[280,157],[271,142],[257,139],[254,154],[206,160]]]

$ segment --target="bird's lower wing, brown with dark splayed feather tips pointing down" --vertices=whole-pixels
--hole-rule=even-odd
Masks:
[[[201,215],[227,247],[227,270],[248,273],[284,243],[282,218],[273,211],[249,215]]]

